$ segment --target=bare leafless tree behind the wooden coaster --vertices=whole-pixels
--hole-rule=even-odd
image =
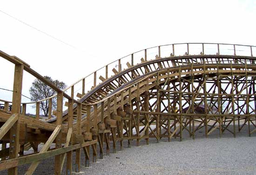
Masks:
[[[62,81],[53,80],[49,76],[44,76],[44,77],[48,81],[51,81],[55,86],[57,86],[60,89],[64,89],[64,88],[67,87],[67,85]],[[48,98],[50,96],[53,96],[56,93],[56,91],[54,89],[50,88],[49,86],[47,86],[44,82],[36,79],[32,83],[32,86],[29,89],[29,93],[30,93],[31,99],[33,101],[40,101],[40,100],[43,100],[43,99]],[[53,105],[53,108],[56,108],[56,106],[57,106],[56,97],[54,97],[52,99],[52,105]],[[40,109],[44,112],[45,116],[48,116],[49,102],[48,101],[41,101],[40,102]]]

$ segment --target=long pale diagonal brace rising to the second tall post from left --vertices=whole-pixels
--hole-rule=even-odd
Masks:
[[[39,153],[44,153],[48,150],[48,148],[51,146],[51,144],[53,143],[54,139],[57,137],[60,131],[61,131],[61,125],[58,125]],[[39,163],[40,161],[33,162],[30,165],[30,167],[27,169],[27,172],[25,173],[25,175],[32,175],[35,169],[37,168],[37,166],[39,165]]]

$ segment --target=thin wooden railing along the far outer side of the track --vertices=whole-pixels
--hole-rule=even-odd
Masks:
[[[65,93],[67,96],[74,97],[74,93],[77,93],[77,96],[80,98],[87,91],[95,88],[98,84],[100,84],[99,80],[104,81],[107,80],[109,77],[115,75],[126,68],[139,64],[141,62],[149,61],[150,59],[155,58],[165,58],[165,57],[175,57],[179,55],[241,55],[241,56],[251,56],[253,57],[256,55],[256,46],[249,46],[249,45],[238,45],[238,44],[222,44],[222,43],[176,43],[176,44],[168,44],[168,45],[161,45],[156,47],[149,47],[146,49],[139,50],[132,54],[128,54],[120,59],[117,59],[108,65],[101,67],[94,71],[91,74],[81,78],[80,80],[74,82],[69,87],[65,88],[62,92]],[[16,58],[16,62],[19,62],[20,59]],[[26,67],[29,65],[26,64]],[[25,69],[26,69],[25,67]],[[28,70],[32,75],[36,77],[34,71]],[[43,77],[40,77],[43,78]],[[43,81],[44,82],[44,81]],[[52,84],[53,85],[53,84]],[[55,87],[56,88],[56,87]],[[53,88],[54,89],[54,88]],[[56,90],[56,89],[54,89]],[[66,97],[64,95],[64,97]],[[35,104],[36,106],[36,116],[39,118],[40,114],[40,102],[41,101],[49,101],[51,104],[51,99],[56,97],[57,94],[53,96],[36,101],[36,102],[24,102],[22,103],[23,114],[26,114],[26,105],[27,104]],[[67,98],[68,99],[68,98]],[[3,100],[0,100],[3,101]],[[7,101],[11,103],[11,101]],[[63,104],[62,108],[66,108],[65,104]],[[49,115],[48,118],[52,117],[51,114],[52,105],[49,105]]]

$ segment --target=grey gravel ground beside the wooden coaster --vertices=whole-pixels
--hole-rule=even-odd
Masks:
[[[230,126],[232,128],[232,126]],[[237,137],[224,132],[219,138],[216,130],[209,138],[204,136],[204,128],[196,133],[195,140],[183,132],[183,141],[172,139],[168,142],[162,138],[160,143],[150,139],[149,145],[141,140],[141,146],[127,148],[124,141],[123,151],[90,162],[89,168],[81,168],[86,175],[255,175],[256,174],[256,135],[248,137],[247,127],[237,133]],[[112,143],[111,143],[112,144]],[[92,151],[91,151],[92,152]],[[73,161],[75,153],[73,154]],[[81,153],[81,166],[84,166],[84,154]],[[23,175],[29,165],[20,166],[19,174]],[[65,164],[64,164],[65,166]],[[74,169],[74,167],[73,167]],[[54,158],[41,161],[36,175],[50,175],[54,170]],[[1,171],[0,175],[6,175]],[[65,174],[65,168],[63,168]]]

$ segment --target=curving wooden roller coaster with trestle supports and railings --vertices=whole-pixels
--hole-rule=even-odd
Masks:
[[[151,47],[101,67],[61,90],[27,63],[0,51],[0,57],[15,65],[13,101],[0,100],[4,103],[0,109],[0,171],[8,169],[9,175],[16,175],[18,166],[30,163],[26,175],[31,175],[41,160],[54,156],[53,173],[60,175],[65,167],[70,175],[80,172],[81,150],[89,167],[90,160],[96,162],[103,154],[109,155],[110,144],[115,153],[116,144],[123,149],[123,141],[128,141],[128,147],[133,140],[140,145],[145,139],[148,144],[149,138],[182,141],[184,132],[195,139],[201,128],[206,137],[213,132],[220,137],[230,132],[236,137],[248,127],[251,136],[256,131],[253,55],[255,46],[233,44]],[[42,101],[31,102],[36,106],[35,118],[26,116],[31,103],[21,102],[23,71],[57,91],[42,100],[50,104],[48,120],[40,119]],[[53,100],[57,100],[56,109]],[[52,143],[54,148],[50,148]],[[24,150],[29,148],[34,153],[26,155]],[[67,164],[63,166],[64,160]]]

